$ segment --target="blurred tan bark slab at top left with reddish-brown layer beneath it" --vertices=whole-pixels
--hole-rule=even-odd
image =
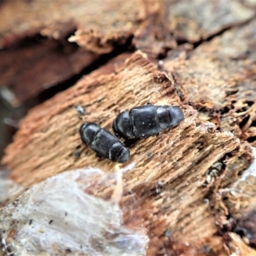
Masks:
[[[10,88],[19,104],[33,99],[126,44],[143,13],[137,1],[4,1],[0,86]],[[83,47],[68,42],[75,31]]]

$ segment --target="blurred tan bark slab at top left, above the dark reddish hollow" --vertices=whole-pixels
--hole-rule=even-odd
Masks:
[[[13,15],[10,15],[13,13]],[[76,42],[86,49],[106,53],[121,43],[145,18],[143,1],[12,1],[1,6],[0,25],[2,47],[17,42],[19,35],[40,35],[60,39],[72,24],[77,28]],[[15,24],[15,26],[13,26]],[[74,31],[74,30],[73,30]],[[23,37],[22,36],[22,37]]]

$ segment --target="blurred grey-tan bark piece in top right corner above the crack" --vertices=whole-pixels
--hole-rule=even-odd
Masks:
[[[173,2],[173,3],[172,3]],[[166,1],[169,6],[169,28],[176,38],[186,38],[188,42],[198,42],[221,30],[252,19],[255,2],[207,1],[199,0],[190,4],[189,0]]]

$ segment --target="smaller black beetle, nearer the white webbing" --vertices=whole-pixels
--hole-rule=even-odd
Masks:
[[[97,156],[113,162],[124,163],[130,158],[130,151],[114,134],[95,123],[84,123],[79,129],[81,140],[90,146]]]

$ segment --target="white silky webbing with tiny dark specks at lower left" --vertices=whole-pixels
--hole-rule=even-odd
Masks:
[[[14,255],[145,255],[147,235],[122,225],[120,175],[81,169],[32,186],[1,209],[2,244]]]

